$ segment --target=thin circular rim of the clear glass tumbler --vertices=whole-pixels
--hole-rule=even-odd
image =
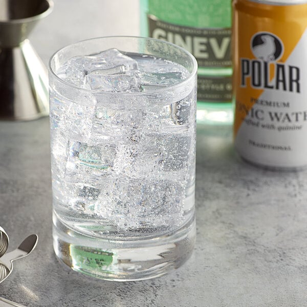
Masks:
[[[66,80],[63,80],[62,78],[60,78],[57,73],[53,70],[52,68],[52,60],[54,59],[54,57],[61,51],[70,48],[74,45],[77,45],[79,43],[82,42],[86,42],[86,41],[93,41],[93,40],[100,40],[100,39],[104,39],[104,38],[134,38],[134,39],[143,39],[143,40],[151,40],[151,41],[158,41],[160,43],[165,43],[166,45],[169,45],[171,47],[174,47],[176,49],[179,49],[181,51],[183,51],[190,59],[191,59],[191,63],[193,64],[193,69],[191,72],[189,72],[189,75],[186,79],[180,81],[179,83],[176,84],[170,84],[170,85],[166,85],[165,87],[161,88],[161,89],[156,89],[156,90],[150,90],[147,92],[106,92],[106,91],[101,91],[101,90],[92,90],[92,89],[85,89],[82,86],[70,83]],[[178,87],[181,87],[183,84],[189,83],[190,80],[197,75],[197,71],[198,71],[198,63],[195,59],[195,57],[186,49],[175,45],[174,43],[168,42],[168,41],[164,41],[161,39],[156,39],[156,38],[151,38],[151,37],[142,37],[142,36],[129,36],[129,35],[116,35],[116,36],[100,36],[100,37],[93,37],[93,38],[87,38],[87,39],[83,39],[74,43],[71,43],[70,45],[64,46],[60,49],[58,49],[57,51],[55,51],[52,56],[49,59],[48,62],[48,68],[49,68],[49,72],[52,73],[52,75],[61,83],[73,87],[76,90],[79,91],[84,91],[85,93],[96,93],[96,94],[103,94],[103,95],[133,95],[133,96],[139,96],[139,95],[150,95],[150,94],[157,94],[157,93],[163,93],[165,91],[170,91],[170,90],[176,90]]]

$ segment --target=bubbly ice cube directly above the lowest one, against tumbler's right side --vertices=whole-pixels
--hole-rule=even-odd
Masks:
[[[117,146],[113,170],[130,179],[159,179],[164,176],[186,182],[191,138],[180,134],[141,135],[138,142],[127,140]]]

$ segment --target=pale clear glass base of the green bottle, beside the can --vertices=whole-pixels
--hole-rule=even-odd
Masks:
[[[232,103],[198,101],[196,122],[198,124],[231,125],[233,123]]]

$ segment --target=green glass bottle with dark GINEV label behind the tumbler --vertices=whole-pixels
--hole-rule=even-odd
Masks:
[[[198,60],[198,123],[231,124],[231,0],[140,0],[141,36],[167,40]]]

